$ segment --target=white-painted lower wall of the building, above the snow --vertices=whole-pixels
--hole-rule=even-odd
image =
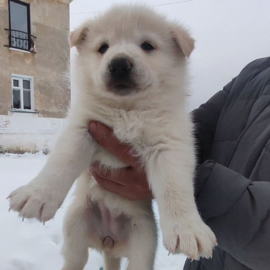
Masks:
[[[0,115],[0,153],[48,153],[65,121],[61,118],[39,118],[34,113]]]

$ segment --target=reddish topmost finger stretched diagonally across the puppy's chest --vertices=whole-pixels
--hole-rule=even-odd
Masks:
[[[139,160],[131,154],[132,148],[120,143],[111,129],[99,122],[90,122],[88,130],[92,133],[93,138],[114,156],[129,166],[138,166]]]

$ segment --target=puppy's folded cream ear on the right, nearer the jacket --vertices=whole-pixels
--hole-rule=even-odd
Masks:
[[[183,54],[189,58],[194,49],[195,40],[190,36],[189,32],[178,24],[172,24],[172,37],[181,48]]]

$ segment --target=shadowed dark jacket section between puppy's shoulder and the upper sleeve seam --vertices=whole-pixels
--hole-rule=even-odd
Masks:
[[[206,103],[191,112],[195,126],[198,163],[209,159],[220,113],[227,101],[235,78]]]

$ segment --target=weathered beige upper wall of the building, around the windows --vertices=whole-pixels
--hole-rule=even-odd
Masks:
[[[0,115],[12,108],[11,74],[33,76],[38,117],[64,118],[70,103],[69,1],[27,0],[35,53],[10,50],[8,0],[0,0]]]

